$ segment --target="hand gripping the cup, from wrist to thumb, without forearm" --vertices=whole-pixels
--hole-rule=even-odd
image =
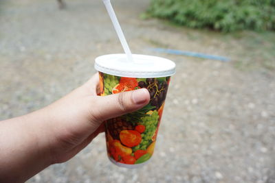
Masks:
[[[45,108],[50,114],[47,143],[51,144],[52,163],[65,162],[86,147],[104,131],[102,121],[138,110],[150,99],[146,89],[99,97],[98,78],[97,73],[83,86]]]

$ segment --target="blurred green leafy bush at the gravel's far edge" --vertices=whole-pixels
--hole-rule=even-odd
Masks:
[[[222,32],[275,30],[275,0],[151,0],[148,15]]]

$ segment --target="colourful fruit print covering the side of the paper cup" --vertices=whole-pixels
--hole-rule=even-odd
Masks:
[[[101,96],[147,88],[150,102],[144,108],[105,121],[109,158],[122,164],[142,164],[153,155],[170,77],[133,78],[100,74]]]

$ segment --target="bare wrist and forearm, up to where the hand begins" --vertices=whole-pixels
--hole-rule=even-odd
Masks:
[[[24,182],[50,166],[37,112],[1,121],[0,182]]]

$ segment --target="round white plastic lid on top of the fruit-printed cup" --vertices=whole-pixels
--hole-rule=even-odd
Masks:
[[[95,69],[120,77],[166,77],[175,74],[175,63],[166,58],[133,54],[134,62],[125,54],[110,54],[96,58]]]

